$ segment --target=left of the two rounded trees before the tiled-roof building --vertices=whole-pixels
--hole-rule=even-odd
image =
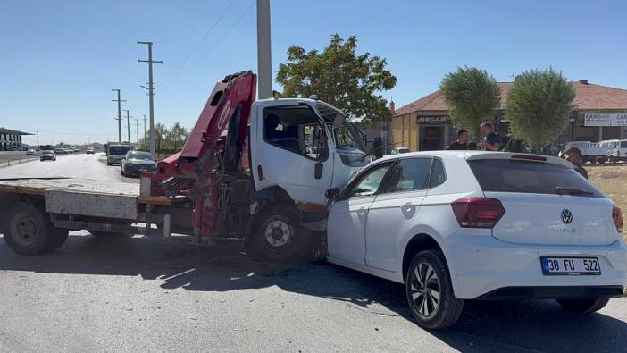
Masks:
[[[458,67],[449,72],[439,84],[451,115],[457,127],[480,136],[481,122],[492,120],[500,104],[501,91],[497,80],[485,70],[475,67]]]

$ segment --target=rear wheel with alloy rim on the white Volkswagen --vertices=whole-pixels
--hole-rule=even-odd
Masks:
[[[414,256],[405,289],[416,323],[425,329],[443,329],[456,323],[464,300],[453,293],[447,261],[440,251],[425,250]]]

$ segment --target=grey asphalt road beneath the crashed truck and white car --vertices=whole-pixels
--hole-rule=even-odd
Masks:
[[[57,163],[119,178],[97,156],[73,157]],[[29,257],[0,238],[3,352],[624,351],[626,332],[624,298],[593,315],[551,301],[468,302],[459,324],[427,332],[412,321],[403,286],[329,264],[255,262],[238,243],[79,231]]]

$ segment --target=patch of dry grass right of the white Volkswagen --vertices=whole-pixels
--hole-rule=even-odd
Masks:
[[[586,164],[589,181],[601,189],[616,206],[623,210],[623,221],[627,214],[627,164]],[[623,231],[627,240],[627,233]]]

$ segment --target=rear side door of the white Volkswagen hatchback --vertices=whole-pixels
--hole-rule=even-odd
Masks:
[[[399,249],[420,212],[430,172],[430,157],[400,159],[389,172],[368,211],[366,265],[396,271]]]

